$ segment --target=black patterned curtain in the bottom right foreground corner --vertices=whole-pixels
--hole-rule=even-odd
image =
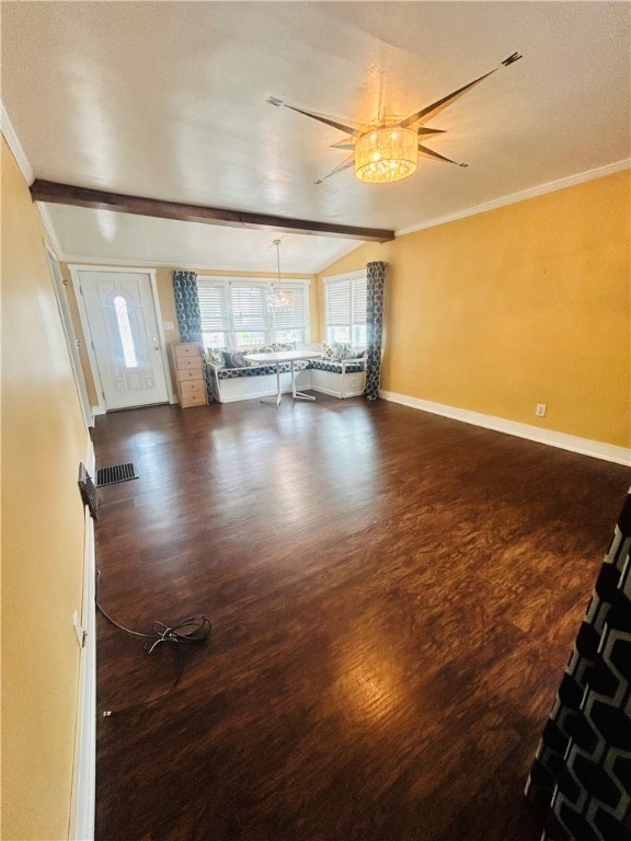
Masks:
[[[631,491],[526,786],[550,841],[631,840]]]

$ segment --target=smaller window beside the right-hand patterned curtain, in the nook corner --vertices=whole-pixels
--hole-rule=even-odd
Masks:
[[[366,345],[366,273],[324,279],[326,342]]]

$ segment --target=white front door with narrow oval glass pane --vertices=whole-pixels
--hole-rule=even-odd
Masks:
[[[81,268],[77,279],[105,408],[167,403],[150,274]]]

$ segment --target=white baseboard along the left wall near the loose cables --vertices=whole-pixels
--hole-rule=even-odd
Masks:
[[[94,448],[89,446],[85,460],[90,475],[94,475]],[[74,772],[69,838],[72,841],[93,841],[94,803],[96,783],[96,608],[94,521],[88,506],[84,508],[85,538],[83,550],[83,604],[81,625],[85,632],[79,666],[79,700],[74,742]]]

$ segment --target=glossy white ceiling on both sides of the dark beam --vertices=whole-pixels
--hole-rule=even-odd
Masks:
[[[628,2],[3,2],[2,100],[35,176],[322,222],[410,230],[630,157]],[[367,185],[334,128],[432,120],[411,178]],[[48,206],[64,256],[275,268],[273,231]],[[358,243],[283,234],[283,270]],[[271,265],[272,263],[272,265]]]

